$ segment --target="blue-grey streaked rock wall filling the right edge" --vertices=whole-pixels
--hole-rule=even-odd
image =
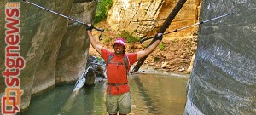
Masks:
[[[234,14],[199,28],[187,114],[256,114],[255,8],[253,0],[202,1],[201,20]]]

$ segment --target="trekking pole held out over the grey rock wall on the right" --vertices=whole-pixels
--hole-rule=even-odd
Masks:
[[[233,13],[234,13],[234,12],[233,12]],[[230,13],[230,14],[233,14],[233,13]],[[209,20],[204,20],[204,21],[201,21],[201,22],[197,22],[197,23],[195,23],[195,24],[193,24],[193,25],[190,25],[190,26],[183,26],[183,27],[178,28],[178,29],[175,29],[175,30],[173,30],[173,31],[171,31],[171,32],[165,32],[165,33],[163,33],[163,35],[166,35],[166,34],[169,34],[169,33],[172,33],[172,32],[178,32],[178,31],[181,31],[181,30],[183,30],[183,29],[189,28],[189,27],[191,27],[191,26],[201,25],[201,24],[207,23],[207,22],[212,21],[212,20],[217,20],[217,19],[219,19],[219,18],[223,18],[223,17],[228,16],[228,15],[230,15],[230,14],[220,15],[220,16],[218,16],[218,17],[215,17],[215,18],[212,18],[212,19],[209,19]],[[140,43],[143,43],[144,41],[147,41],[147,40],[152,39],[152,38],[154,38],[154,37],[143,38],[142,40],[140,40]]]

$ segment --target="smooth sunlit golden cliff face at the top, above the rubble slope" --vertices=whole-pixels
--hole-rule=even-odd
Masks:
[[[108,12],[108,25],[113,30],[131,32],[137,36],[143,36],[151,31],[156,31],[171,13],[177,1],[173,0],[137,0],[123,1],[113,0],[113,6]],[[189,26],[198,21],[200,0],[188,0],[181,11],[172,21],[166,32]],[[165,37],[191,36],[197,31],[198,26],[168,34]],[[154,34],[152,32],[151,34]]]

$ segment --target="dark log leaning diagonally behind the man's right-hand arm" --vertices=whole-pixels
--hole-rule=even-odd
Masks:
[[[164,24],[160,27],[160,30],[158,31],[158,33],[166,32],[166,29],[170,26],[172,20],[175,18],[175,16],[179,12],[179,10],[182,9],[183,4],[186,3],[186,1],[187,0],[179,0],[177,2],[176,6],[174,7],[174,9],[172,9],[172,12],[169,14],[169,16],[166,19],[166,21],[164,22]],[[153,44],[155,41],[156,41],[156,38],[154,38],[149,45]],[[138,60],[137,65],[134,66],[132,71],[137,72],[139,70],[139,68],[143,65],[143,63],[147,59],[147,57],[148,57],[148,55],[143,57],[142,59]]]

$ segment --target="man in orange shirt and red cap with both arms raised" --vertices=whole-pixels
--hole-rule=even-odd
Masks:
[[[114,52],[103,48],[92,36],[91,30],[93,26],[87,25],[87,33],[90,43],[94,49],[102,56],[107,66],[107,96],[106,108],[109,115],[125,115],[131,112],[131,94],[128,85],[127,75],[130,66],[137,60],[149,55],[154,51],[156,46],[162,40],[162,33],[158,33],[155,37],[158,39],[147,49],[136,53],[125,54],[125,39],[118,38],[113,44]]]

